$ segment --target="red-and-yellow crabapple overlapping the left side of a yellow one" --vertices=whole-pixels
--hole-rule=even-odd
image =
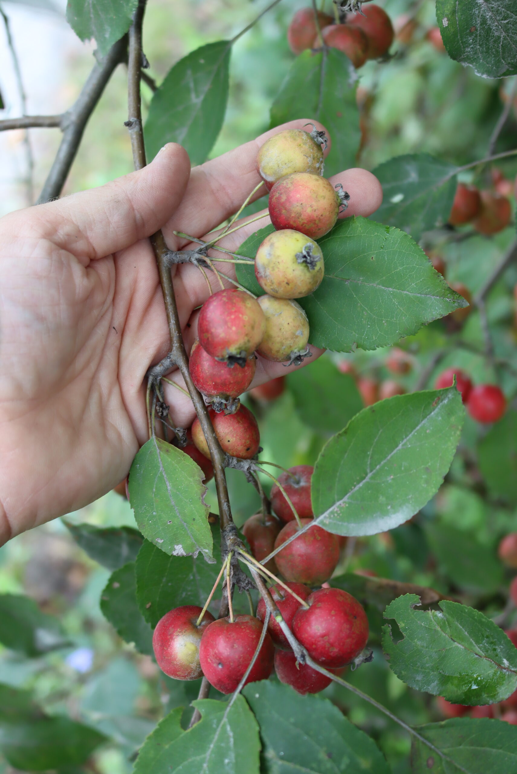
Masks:
[[[259,303],[243,290],[219,290],[207,299],[197,321],[201,346],[217,360],[249,358],[262,341],[265,319]],[[244,365],[244,363],[242,363]]]

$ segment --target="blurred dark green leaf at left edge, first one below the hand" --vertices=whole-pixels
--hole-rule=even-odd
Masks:
[[[25,656],[70,646],[60,622],[21,594],[0,594],[0,642]]]

